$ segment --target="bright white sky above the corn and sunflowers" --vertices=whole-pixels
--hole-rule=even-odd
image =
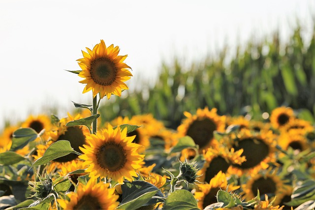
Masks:
[[[132,90],[154,81],[162,60],[189,64],[277,28],[287,37],[296,18],[312,26],[314,11],[314,0],[0,0],[0,130],[47,106],[63,117],[71,100],[92,103],[64,69],[80,70],[81,50],[100,39],[128,55]]]

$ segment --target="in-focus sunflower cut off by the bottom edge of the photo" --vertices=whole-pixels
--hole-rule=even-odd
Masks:
[[[118,195],[114,194],[115,188],[109,188],[109,183],[95,183],[90,179],[88,183],[77,186],[76,192],[69,192],[69,200],[57,199],[63,210],[113,210],[118,207]]]

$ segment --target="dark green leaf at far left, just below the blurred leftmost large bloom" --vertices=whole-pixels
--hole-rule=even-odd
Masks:
[[[24,148],[29,142],[37,138],[37,133],[32,128],[19,128],[13,132],[12,146],[10,151],[16,151]]]

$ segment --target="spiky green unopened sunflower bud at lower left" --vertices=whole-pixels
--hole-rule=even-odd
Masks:
[[[39,181],[32,181],[31,191],[35,192],[36,198],[46,198],[52,190],[53,180],[51,175],[39,176]],[[33,197],[32,196],[32,197]]]

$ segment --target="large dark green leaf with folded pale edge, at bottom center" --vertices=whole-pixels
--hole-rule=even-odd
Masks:
[[[124,181],[122,185],[122,202],[121,206],[124,209],[129,210],[131,207],[137,209],[142,206],[149,206],[158,202],[164,201],[164,195],[153,184],[136,180],[136,181]],[[159,198],[158,198],[159,197]],[[121,209],[121,206],[119,209]],[[137,208],[135,208],[137,206]]]

